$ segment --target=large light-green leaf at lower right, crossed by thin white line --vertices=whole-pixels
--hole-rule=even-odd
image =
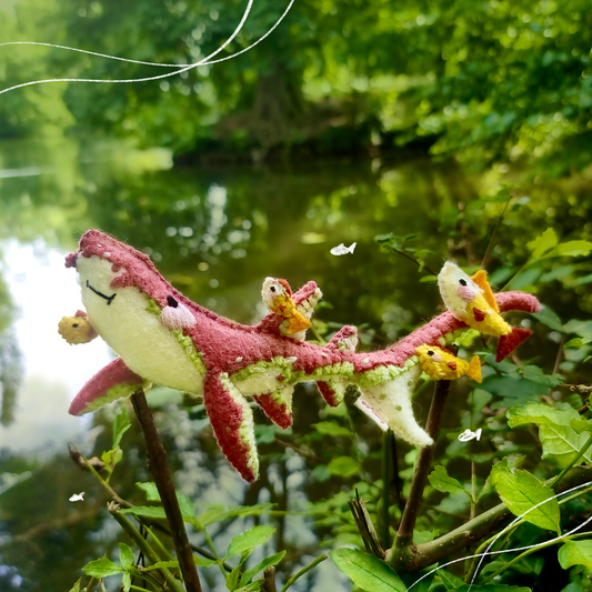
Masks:
[[[560,532],[559,502],[553,491],[533,474],[520,469],[512,473],[504,459],[493,466],[490,479],[508,510],[515,516],[541,529]],[[545,500],[549,501],[534,508]]]

